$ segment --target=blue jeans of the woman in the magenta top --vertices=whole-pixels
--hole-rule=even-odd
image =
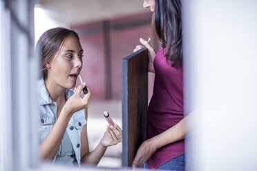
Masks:
[[[163,165],[160,165],[159,168],[156,170],[185,170],[186,169],[186,162],[185,162],[185,154],[182,154],[181,156],[172,159]],[[150,169],[146,163],[144,163],[144,169]]]

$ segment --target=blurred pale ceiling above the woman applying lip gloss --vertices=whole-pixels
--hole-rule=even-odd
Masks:
[[[143,0],[38,0],[36,7],[64,26],[148,12]]]

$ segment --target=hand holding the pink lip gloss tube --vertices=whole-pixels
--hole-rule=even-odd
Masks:
[[[101,144],[104,147],[111,145],[116,145],[122,141],[122,128],[119,125],[114,124],[108,125],[106,132],[104,132],[104,137],[101,140]]]

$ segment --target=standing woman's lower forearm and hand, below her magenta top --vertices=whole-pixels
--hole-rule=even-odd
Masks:
[[[169,130],[166,130],[161,134],[158,134],[155,137],[144,141],[144,143],[142,143],[142,145],[140,145],[140,148],[137,150],[137,154],[135,155],[132,167],[140,167],[140,165],[144,164],[151,157],[151,155],[156,150],[158,150],[158,148],[184,139],[188,130],[188,118],[189,116],[184,117],[184,119],[175,124],[173,127],[169,128]]]

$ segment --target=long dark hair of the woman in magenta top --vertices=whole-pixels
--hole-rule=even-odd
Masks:
[[[182,16],[180,0],[155,0],[155,30],[166,48],[171,66],[182,63]]]

